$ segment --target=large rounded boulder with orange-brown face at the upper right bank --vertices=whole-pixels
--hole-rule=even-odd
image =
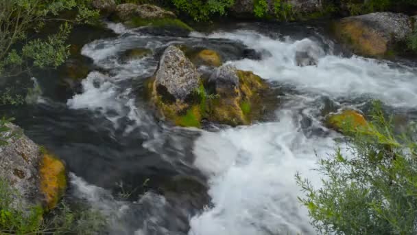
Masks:
[[[336,36],[364,56],[384,56],[411,33],[412,21],[401,13],[350,16],[335,24]]]

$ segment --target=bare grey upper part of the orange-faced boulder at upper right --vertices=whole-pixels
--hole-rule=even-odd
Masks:
[[[376,12],[346,17],[342,21],[359,21],[389,41],[403,41],[412,33],[411,19],[402,13]]]

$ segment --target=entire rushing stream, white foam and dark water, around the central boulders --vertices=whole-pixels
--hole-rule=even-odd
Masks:
[[[82,47],[91,72],[79,92],[51,82],[56,73],[42,74],[38,103],[6,111],[67,162],[69,198],[106,214],[110,234],[315,234],[294,175],[320,186],[311,170],[316,155],[340,146],[339,134],[323,125],[325,111],[366,113],[379,99],[391,113],[416,116],[411,62],[352,56],[320,26],[242,23],[189,36],[108,27],[114,36]],[[273,87],[279,106],[262,122],[236,128],[210,124],[201,131],[155,120],[143,82],[172,44],[215,49],[227,63],[254,71]],[[138,47],[153,54],[122,59]],[[296,65],[296,52],[306,50],[317,66]]]

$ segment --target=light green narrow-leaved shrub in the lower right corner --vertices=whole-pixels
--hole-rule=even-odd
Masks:
[[[300,201],[322,234],[416,234],[417,125],[394,133],[379,103],[366,128],[346,126],[349,156],[320,158],[322,186],[296,175]]]

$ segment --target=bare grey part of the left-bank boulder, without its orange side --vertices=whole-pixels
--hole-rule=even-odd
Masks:
[[[0,146],[0,177],[10,181],[21,198],[14,203],[28,208],[38,205],[43,199],[38,190],[38,163],[42,158],[39,146],[32,142],[18,126],[8,124],[11,131],[5,135],[12,136],[8,144]],[[14,135],[16,134],[17,135]]]

